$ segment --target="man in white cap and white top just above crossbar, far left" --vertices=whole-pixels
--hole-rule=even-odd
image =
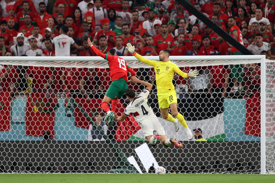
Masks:
[[[11,53],[13,56],[21,56],[31,48],[29,43],[24,43],[25,36],[23,33],[18,33],[16,36],[17,44],[11,46]]]

